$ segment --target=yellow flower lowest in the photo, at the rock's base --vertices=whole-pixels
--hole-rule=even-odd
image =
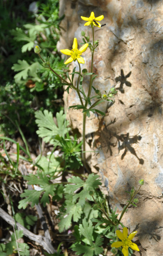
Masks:
[[[124,256],[128,256],[128,247],[131,247],[132,250],[140,251],[137,244],[131,242],[133,237],[136,235],[137,231],[132,232],[129,237],[127,238],[127,228],[123,228],[123,233],[120,230],[116,230],[117,237],[122,240],[122,242],[114,242],[112,243],[111,247],[118,248],[122,246],[122,253]]]

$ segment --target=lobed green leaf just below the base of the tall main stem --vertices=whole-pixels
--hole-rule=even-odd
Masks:
[[[101,185],[98,177],[98,175],[90,174],[88,179],[84,182],[79,177],[73,176],[72,178],[69,178],[68,181],[74,184],[65,185],[64,191],[66,193],[73,194],[73,202],[76,202],[76,200],[79,198],[78,203],[83,208],[85,205],[85,198],[88,198],[88,200],[92,201],[92,197],[89,195],[89,191],[94,191],[96,188],[98,188],[99,185]],[[74,191],[79,188],[83,188],[83,190],[75,194]]]

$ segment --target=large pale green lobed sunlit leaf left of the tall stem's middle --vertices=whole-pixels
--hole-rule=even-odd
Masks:
[[[67,133],[70,128],[67,128],[68,121],[65,119],[66,114],[63,113],[63,110],[57,112],[56,118],[58,127],[54,123],[53,116],[51,112],[48,110],[35,112],[36,123],[38,125],[37,134],[39,137],[44,138],[43,140],[51,144],[55,144],[54,136],[60,135],[64,137],[65,133]]]

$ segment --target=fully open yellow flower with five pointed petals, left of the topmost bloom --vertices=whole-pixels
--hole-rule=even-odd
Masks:
[[[65,50],[60,50],[62,53],[66,54],[66,55],[70,55],[71,57],[68,58],[65,62],[65,64],[68,64],[70,62],[72,62],[73,60],[78,60],[79,63],[85,63],[84,62],[84,58],[81,57],[80,55],[82,54],[82,52],[86,51],[88,47],[88,43],[85,43],[79,50],[78,50],[78,42],[77,42],[77,39],[74,38],[74,42],[73,42],[73,45],[72,45],[72,50],[68,50],[68,49],[65,49]]]

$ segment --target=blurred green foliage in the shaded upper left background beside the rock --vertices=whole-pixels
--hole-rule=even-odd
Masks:
[[[4,46],[2,47],[4,51],[1,51],[2,65],[0,65],[0,71],[3,74],[1,80],[3,86],[0,88],[0,132],[7,136],[15,135],[17,131],[15,120],[18,121],[25,135],[31,135],[36,130],[34,121],[36,109],[48,109],[55,115],[63,108],[62,100],[59,101],[62,98],[63,89],[61,87],[49,88],[51,83],[59,82],[58,77],[43,67],[41,61],[33,53],[33,47],[39,43],[44,58],[49,57],[52,68],[61,76],[64,75],[66,67],[56,48],[60,22],[58,3],[58,0],[37,2],[40,8],[39,14],[29,14],[25,9],[26,20],[22,16],[19,17],[20,13],[14,8],[14,1],[10,5],[7,2],[0,6],[1,15],[3,16],[3,11],[6,14],[5,18],[3,17],[4,27],[0,32]],[[29,3],[25,1],[24,5],[28,8]],[[24,8],[24,5],[20,4],[19,7]],[[15,19],[14,15],[11,15],[12,7],[15,15],[17,14]],[[11,16],[12,19],[10,19]],[[29,18],[33,20],[32,23],[24,24],[25,21],[30,20]],[[17,25],[19,27],[16,27]],[[6,29],[7,26],[10,28],[10,32],[8,28]],[[6,48],[10,49],[10,54],[5,49],[6,45],[9,45],[8,42],[5,43],[6,38],[12,41],[11,45]],[[30,54],[29,51],[31,51]],[[7,56],[5,56],[5,52],[7,52]],[[6,62],[8,66],[5,66]],[[14,75],[11,69],[17,74]]]

